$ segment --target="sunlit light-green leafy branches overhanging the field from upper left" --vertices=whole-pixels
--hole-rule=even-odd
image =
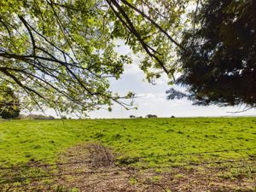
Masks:
[[[119,79],[131,56],[117,52],[121,39],[148,81],[172,76],[174,39],[188,0],[0,0],[0,83],[21,103],[58,112],[83,112],[118,102],[109,78]],[[152,71],[151,69],[157,69]]]

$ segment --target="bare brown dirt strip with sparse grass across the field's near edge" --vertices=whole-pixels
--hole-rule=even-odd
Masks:
[[[54,165],[30,162],[16,168],[15,180],[3,180],[0,191],[253,192],[256,186],[255,159],[149,168],[127,165],[117,156],[100,143],[79,144],[60,154]]]

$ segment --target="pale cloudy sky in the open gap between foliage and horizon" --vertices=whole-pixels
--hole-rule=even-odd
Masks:
[[[130,50],[122,46],[117,50],[119,53],[130,53]],[[138,67],[139,60],[134,59],[131,65],[125,66],[125,71],[119,80],[110,80],[110,90],[116,91],[119,95],[125,96],[127,92],[136,93],[138,98],[135,99],[137,110],[126,110],[115,104],[112,112],[99,110],[91,112],[90,118],[129,118],[130,115],[143,116],[147,114],[156,114],[158,117],[207,117],[207,116],[251,116],[256,115],[256,109],[251,109],[243,113],[236,112],[242,108],[220,108],[218,106],[194,106],[192,102],[182,100],[166,100],[166,90],[172,88],[167,84],[167,77],[163,76],[156,81],[156,84],[149,84],[145,79],[145,74]],[[174,86],[177,90],[184,88]],[[127,101],[129,102],[129,101]]]

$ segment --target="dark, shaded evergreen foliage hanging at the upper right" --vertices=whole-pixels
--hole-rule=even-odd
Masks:
[[[209,0],[183,34],[183,73],[177,84],[189,94],[168,90],[168,98],[188,97],[198,105],[256,104],[256,1]]]

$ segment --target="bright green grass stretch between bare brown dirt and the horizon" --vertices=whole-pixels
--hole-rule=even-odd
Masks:
[[[84,143],[102,143],[127,166],[252,160],[256,118],[0,121],[0,166],[53,164]]]

